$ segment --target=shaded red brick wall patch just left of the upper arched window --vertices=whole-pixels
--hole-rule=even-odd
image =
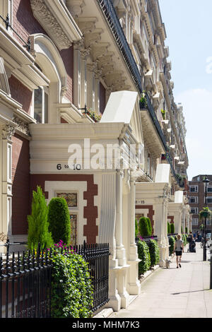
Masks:
[[[11,97],[23,105],[23,110],[30,114],[30,105],[32,102],[33,93],[25,85],[17,80],[15,76],[8,79],[11,89]]]

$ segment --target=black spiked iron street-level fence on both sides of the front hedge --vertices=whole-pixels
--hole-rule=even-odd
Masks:
[[[109,244],[84,243],[73,249],[88,262],[95,312],[109,301]],[[51,317],[53,254],[52,249],[38,247],[33,253],[7,250],[4,259],[0,256],[0,318]]]

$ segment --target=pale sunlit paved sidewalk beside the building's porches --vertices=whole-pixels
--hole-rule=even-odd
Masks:
[[[127,309],[108,318],[212,318],[210,290],[210,254],[203,261],[203,249],[182,255],[182,268],[176,268],[176,256],[170,268],[158,268],[141,283],[141,295]]]

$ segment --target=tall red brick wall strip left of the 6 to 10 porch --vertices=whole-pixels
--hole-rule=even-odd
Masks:
[[[15,134],[12,155],[12,234],[28,232],[30,212],[30,149],[29,141]]]

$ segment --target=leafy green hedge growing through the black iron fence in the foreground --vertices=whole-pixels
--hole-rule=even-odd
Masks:
[[[88,263],[83,257],[70,252],[53,255],[52,318],[89,318],[93,305]]]

